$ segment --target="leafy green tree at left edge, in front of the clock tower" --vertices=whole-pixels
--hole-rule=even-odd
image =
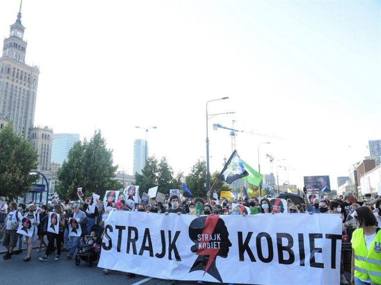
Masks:
[[[0,196],[10,200],[24,196],[39,175],[30,175],[38,165],[38,154],[32,144],[15,135],[13,122],[0,131]]]

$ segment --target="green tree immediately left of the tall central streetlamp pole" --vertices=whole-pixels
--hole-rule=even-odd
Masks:
[[[205,197],[206,188],[206,162],[197,160],[191,168],[191,172],[185,177],[188,188],[193,193],[193,197]]]

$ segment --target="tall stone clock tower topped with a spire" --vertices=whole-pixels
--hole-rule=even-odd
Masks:
[[[20,6],[9,37],[4,39],[0,58],[0,117],[13,121],[15,132],[27,139],[34,124],[40,70],[25,63],[24,30]]]

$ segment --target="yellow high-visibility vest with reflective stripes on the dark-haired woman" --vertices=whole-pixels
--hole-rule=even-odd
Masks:
[[[359,228],[352,234],[352,248],[355,253],[355,276],[361,280],[372,280],[381,284],[381,231],[377,228],[376,236],[366,248],[364,230]]]

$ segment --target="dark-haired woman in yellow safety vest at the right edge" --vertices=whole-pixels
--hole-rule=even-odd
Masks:
[[[381,284],[381,231],[368,207],[353,213],[360,228],[352,234],[351,284]]]

